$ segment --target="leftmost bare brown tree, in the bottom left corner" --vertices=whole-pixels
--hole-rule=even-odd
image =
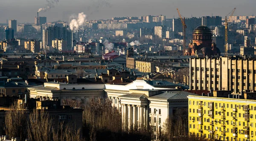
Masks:
[[[10,138],[20,138],[21,141],[24,141],[27,137],[27,118],[26,107],[14,102],[5,116],[6,135],[9,135]]]

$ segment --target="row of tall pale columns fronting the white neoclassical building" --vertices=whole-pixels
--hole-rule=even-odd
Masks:
[[[136,127],[148,127],[148,106],[131,104],[121,105],[122,126],[124,130],[132,130]]]

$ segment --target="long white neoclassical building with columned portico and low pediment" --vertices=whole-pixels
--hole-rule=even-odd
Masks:
[[[154,138],[163,129],[167,118],[178,108],[188,107],[188,95],[195,95],[177,89],[161,88],[147,81],[136,80],[128,85],[109,84],[67,84],[47,82],[29,87],[30,98],[75,99],[87,104],[90,99],[108,97],[112,106],[122,113],[124,130],[135,127],[154,127]]]

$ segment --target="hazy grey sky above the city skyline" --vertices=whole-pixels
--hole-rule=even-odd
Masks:
[[[33,23],[39,8],[46,0],[0,0],[0,23],[15,19],[20,23]],[[166,15],[177,17],[176,8],[184,17],[224,17],[234,7],[236,15],[256,15],[256,0],[59,0],[49,11],[40,12],[47,22],[70,20],[80,12],[87,14],[87,20],[110,19],[111,17]]]

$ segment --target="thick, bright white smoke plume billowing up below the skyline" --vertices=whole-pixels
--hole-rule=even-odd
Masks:
[[[84,25],[84,22],[86,22],[86,15],[84,14],[84,12],[79,13],[76,19],[71,20],[70,29],[72,31],[77,31],[79,27]]]

